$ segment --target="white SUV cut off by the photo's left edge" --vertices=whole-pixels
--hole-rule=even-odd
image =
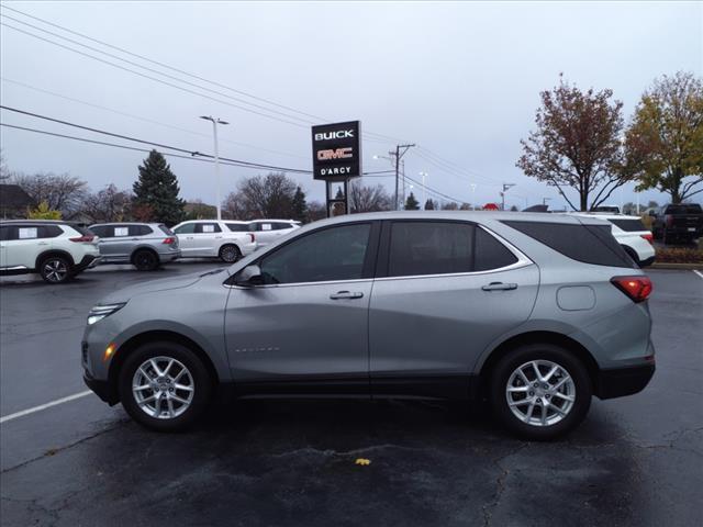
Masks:
[[[100,261],[98,236],[72,223],[47,220],[0,222],[0,274],[38,272],[63,283]]]

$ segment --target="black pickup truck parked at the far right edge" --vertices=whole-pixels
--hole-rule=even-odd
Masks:
[[[703,210],[698,203],[663,205],[649,211],[655,239],[691,243],[703,236]]]

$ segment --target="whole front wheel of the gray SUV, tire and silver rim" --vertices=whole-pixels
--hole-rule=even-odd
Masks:
[[[159,341],[141,346],[127,357],[119,388],[122,405],[134,421],[157,431],[177,431],[203,413],[212,380],[189,348]]]

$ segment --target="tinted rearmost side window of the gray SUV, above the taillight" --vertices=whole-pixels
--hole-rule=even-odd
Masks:
[[[633,260],[615,242],[610,225],[503,223],[573,260],[596,266],[634,267]]]

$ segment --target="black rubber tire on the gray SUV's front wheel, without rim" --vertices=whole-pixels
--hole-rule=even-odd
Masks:
[[[132,382],[137,369],[149,359],[156,358],[176,359],[176,361],[187,368],[190,374],[190,380],[192,380],[192,400],[186,410],[175,417],[164,416],[164,418],[157,418],[154,415],[147,414],[147,411],[142,410],[142,406],[137,402],[132,390]],[[161,362],[161,365],[164,362]],[[153,370],[150,372],[153,372]],[[188,380],[188,382],[190,382],[190,380]],[[202,360],[186,346],[171,341],[148,343],[135,349],[124,361],[118,383],[120,401],[127,414],[130,414],[130,416],[141,425],[156,431],[179,431],[188,428],[207,410],[212,394],[212,379]],[[166,384],[163,385],[166,386]],[[169,388],[168,391],[172,392],[172,389]],[[166,390],[156,392],[155,390],[147,389],[146,393],[144,393],[145,396],[167,396],[165,392]],[[175,393],[178,394],[178,390]],[[182,395],[182,393],[180,393],[180,395]],[[167,403],[168,401],[164,400],[158,404],[160,408],[167,411]],[[145,407],[148,410],[148,406]]]

